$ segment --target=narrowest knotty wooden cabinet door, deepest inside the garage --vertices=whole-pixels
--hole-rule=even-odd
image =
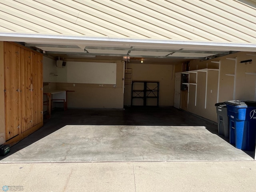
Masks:
[[[33,65],[33,73],[32,73],[32,90],[33,90],[33,125],[37,125],[38,123],[43,121],[43,64],[42,64],[42,56],[40,54],[36,54],[32,52],[32,65]]]

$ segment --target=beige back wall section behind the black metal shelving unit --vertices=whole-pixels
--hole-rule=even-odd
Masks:
[[[174,65],[163,64],[129,64],[133,81],[159,81],[159,106],[174,104]],[[131,105],[131,84],[125,84],[124,105]]]

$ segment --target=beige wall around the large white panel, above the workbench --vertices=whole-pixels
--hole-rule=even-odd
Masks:
[[[74,60],[73,60],[74,61]],[[92,60],[76,60],[79,62],[95,62]],[[98,62],[110,62],[100,60]],[[44,60],[44,79],[48,79],[48,85],[44,86],[44,91],[48,90],[70,90],[74,92],[67,93],[68,108],[123,108],[123,63],[121,61],[112,61],[116,63],[116,85],[112,84],[83,84],[63,82],[66,68],[57,68],[52,59]],[[47,74],[46,74],[47,72]],[[52,76],[49,79],[49,73],[56,73],[58,76]],[[62,81],[62,82],[61,82]],[[56,82],[56,83],[55,83]],[[45,98],[46,99],[46,98]],[[61,105],[61,104],[59,104]],[[54,107],[54,106],[53,106]],[[44,111],[46,108],[44,107]]]

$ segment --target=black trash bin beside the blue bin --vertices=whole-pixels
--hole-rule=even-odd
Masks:
[[[216,112],[218,116],[218,134],[229,138],[229,120],[228,110],[225,103],[216,103]]]

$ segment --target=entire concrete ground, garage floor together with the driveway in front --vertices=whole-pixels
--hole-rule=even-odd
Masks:
[[[0,158],[0,189],[255,191],[254,152],[216,133],[212,122],[175,108],[56,111]]]

